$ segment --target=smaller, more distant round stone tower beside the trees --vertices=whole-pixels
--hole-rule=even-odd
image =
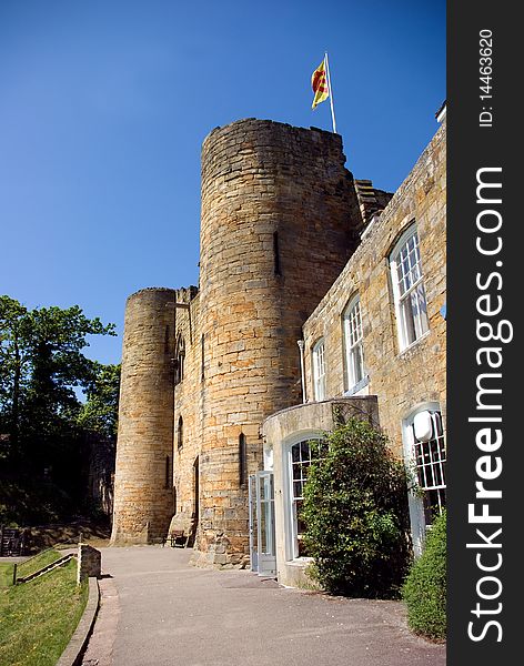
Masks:
[[[113,544],[165,537],[173,514],[174,301],[174,290],[144,289],[127,302]]]

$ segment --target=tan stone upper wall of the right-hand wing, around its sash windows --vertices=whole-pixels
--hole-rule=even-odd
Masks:
[[[308,396],[313,396],[312,346],[324,336],[326,395],[344,394],[342,313],[359,293],[363,324],[364,393],[379,397],[380,422],[402,455],[401,422],[424,402],[439,402],[445,420],[445,124],[380,218],[366,230],[340,278],[304,325]],[[430,331],[404,352],[399,349],[389,255],[402,232],[416,223]]]

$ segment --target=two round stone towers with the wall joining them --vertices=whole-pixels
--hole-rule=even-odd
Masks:
[[[316,129],[248,119],[205,139],[199,290],[128,300],[113,543],[165,536],[177,511],[196,564],[248,561],[260,424],[300,402],[302,325],[364,226],[344,163]]]

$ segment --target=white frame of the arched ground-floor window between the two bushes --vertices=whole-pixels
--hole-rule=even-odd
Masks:
[[[416,440],[414,433],[415,416],[422,412],[427,412],[432,420],[432,436],[429,442]],[[402,425],[404,463],[411,477],[409,503],[413,551],[419,556],[431,527],[430,493],[437,498],[439,513],[445,507],[446,445],[440,404],[431,402],[419,405],[404,418]]]

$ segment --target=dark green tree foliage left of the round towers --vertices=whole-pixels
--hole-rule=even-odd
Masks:
[[[2,519],[39,522],[53,513],[63,517],[83,494],[87,430],[114,430],[117,400],[107,386],[118,381],[118,366],[105,367],[84,355],[91,335],[115,335],[114,324],[88,319],[78,305],[28,310],[0,296]],[[87,392],[87,405],[78,389]],[[50,502],[33,504],[31,518],[23,497],[33,496],[36,488]]]

